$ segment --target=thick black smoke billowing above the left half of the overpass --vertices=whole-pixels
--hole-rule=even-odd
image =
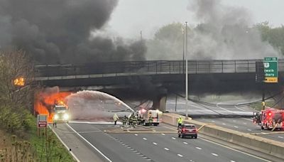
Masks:
[[[38,63],[143,60],[143,41],[92,38],[104,28],[118,0],[0,0],[1,48],[16,46]]]

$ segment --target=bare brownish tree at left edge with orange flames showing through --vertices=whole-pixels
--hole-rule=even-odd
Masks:
[[[33,64],[23,50],[0,51],[0,102],[13,109],[31,107]]]

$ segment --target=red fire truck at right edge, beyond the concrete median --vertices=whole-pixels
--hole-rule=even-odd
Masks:
[[[261,129],[284,129],[284,109],[268,107],[261,112],[253,112],[253,123]]]

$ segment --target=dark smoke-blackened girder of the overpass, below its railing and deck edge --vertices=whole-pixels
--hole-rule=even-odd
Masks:
[[[277,89],[282,85],[282,74],[278,83],[267,83],[269,89]],[[76,78],[67,80],[44,80],[42,84],[48,87],[59,86],[63,91],[76,90],[151,90],[165,87],[168,90],[184,90],[185,75],[136,75],[121,77]],[[255,73],[231,74],[196,74],[189,75],[191,92],[233,92],[235,90],[258,90]]]

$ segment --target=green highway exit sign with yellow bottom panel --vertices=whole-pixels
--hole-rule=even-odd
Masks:
[[[278,82],[278,58],[264,58],[264,82]]]

